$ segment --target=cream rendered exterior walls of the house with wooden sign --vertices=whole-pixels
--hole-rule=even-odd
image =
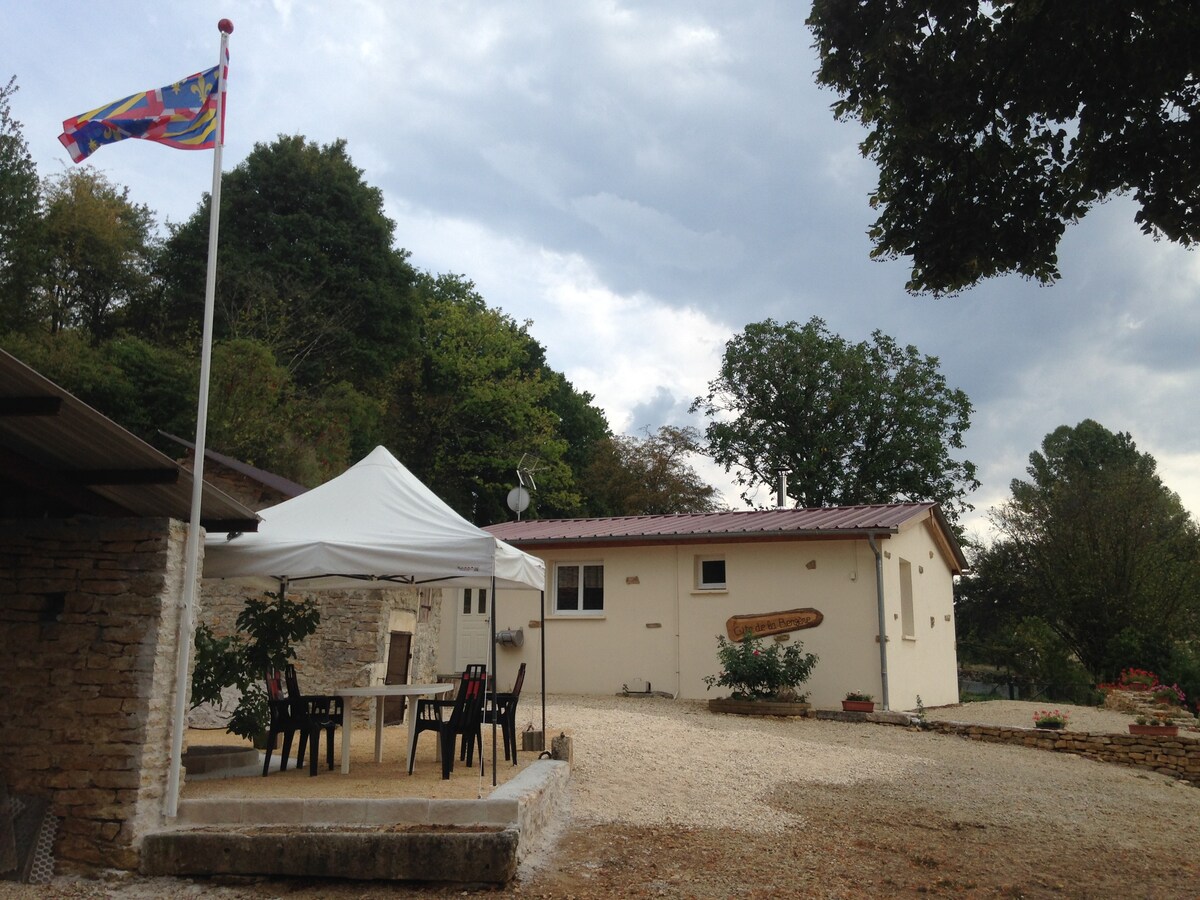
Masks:
[[[953,588],[950,569],[924,524],[878,540],[884,558],[888,662],[893,709],[911,709],[920,694],[926,706],[956,702]],[[934,556],[930,557],[932,551]],[[618,694],[622,685],[649,682],[650,689],[683,698],[726,696],[707,690],[718,674],[716,636],[731,616],[812,607],[824,619],[816,628],[779,640],[800,641],[821,659],[805,685],[810,702],[838,707],[850,690],[882,700],[875,556],[865,540],[798,540],[743,544],[671,544],[604,548],[534,548],[546,562],[546,690],[551,694]],[[696,588],[695,558],[724,557],[725,590]],[[900,635],[901,558],[912,563],[916,640]],[[605,566],[601,616],[556,616],[551,584],[554,564]],[[809,565],[811,564],[811,568]],[[918,574],[918,568],[923,571]],[[461,592],[444,590],[439,671],[454,660],[454,622]],[[539,595],[502,590],[497,629],[524,630],[520,649],[498,647],[502,689],[527,662],[524,689],[541,689]],[[950,616],[950,622],[944,616]],[[935,618],[932,628],[930,617]],[[919,628],[924,623],[924,630]],[[776,640],[768,637],[766,640]],[[446,662],[449,660],[450,662]],[[529,710],[532,710],[530,704]],[[528,712],[528,710],[527,710]],[[532,713],[530,713],[532,714]],[[521,716],[522,720],[524,716]]]

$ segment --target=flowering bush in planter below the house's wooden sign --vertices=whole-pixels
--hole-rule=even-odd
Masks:
[[[778,641],[763,646],[761,638],[746,631],[740,641],[716,637],[716,658],[721,672],[706,676],[708,690],[721,686],[730,696],[708,701],[718,713],[742,715],[804,715],[808,694],[800,691],[817,664],[814,653],[804,653],[799,641],[784,647]]]

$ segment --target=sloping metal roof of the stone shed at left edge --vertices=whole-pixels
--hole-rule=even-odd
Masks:
[[[192,474],[0,350],[0,516],[169,516],[187,521]],[[202,524],[252,532],[258,516],[211,485]]]

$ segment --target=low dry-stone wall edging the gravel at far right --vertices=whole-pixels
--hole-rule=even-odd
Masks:
[[[1200,785],[1200,740],[1190,737],[1106,734],[942,721],[926,722],[925,727],[942,734],[959,734],[972,740],[1020,744],[1038,750],[1075,754],[1088,760],[1151,769]]]

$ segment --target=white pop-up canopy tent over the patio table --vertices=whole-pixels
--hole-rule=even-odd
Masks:
[[[301,590],[490,588],[493,673],[496,589],[546,587],[541,559],[468,522],[383,446],[320,487],[258,515],[257,533],[205,538],[205,578],[265,590],[288,584]],[[494,694],[494,678],[492,683]],[[544,671],[542,733],[545,718]],[[494,734],[492,758],[494,781]]]

